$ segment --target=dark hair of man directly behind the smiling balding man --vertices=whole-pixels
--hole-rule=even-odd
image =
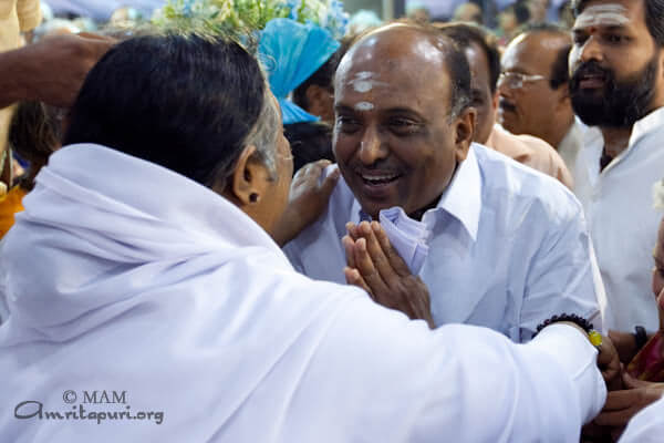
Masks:
[[[450,38],[459,48],[477,44],[485,53],[489,65],[489,87],[496,92],[498,75],[500,75],[500,52],[496,40],[484,28],[473,23],[444,23],[437,27],[443,34]]]

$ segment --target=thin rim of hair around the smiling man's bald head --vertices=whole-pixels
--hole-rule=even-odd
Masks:
[[[470,106],[473,92],[470,89],[470,66],[464,51],[455,43],[453,39],[440,33],[440,30],[429,23],[421,23],[409,19],[400,19],[391,23],[384,24],[378,28],[366,30],[359,34],[349,49],[362,42],[364,38],[374,32],[380,32],[382,29],[392,24],[404,24],[411,29],[421,32],[423,35],[428,37],[434,45],[443,54],[445,66],[447,68],[447,74],[452,82],[452,91],[449,94],[449,114],[452,117],[459,115],[468,106]]]

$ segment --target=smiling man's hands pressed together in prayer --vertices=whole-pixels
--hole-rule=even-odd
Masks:
[[[378,305],[400,310],[411,319],[425,320],[434,329],[426,285],[411,274],[381,225],[377,222],[349,223],[346,230],[349,235],[342,241],[349,285],[363,288]]]

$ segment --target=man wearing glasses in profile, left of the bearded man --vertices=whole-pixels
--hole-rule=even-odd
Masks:
[[[498,121],[515,134],[548,142],[573,174],[587,127],[569,96],[571,45],[569,32],[553,24],[531,25],[509,43],[498,79]]]

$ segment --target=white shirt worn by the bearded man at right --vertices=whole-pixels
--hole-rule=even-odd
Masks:
[[[600,174],[603,144],[579,154],[575,194],[583,204],[590,233],[615,317],[611,329],[633,331],[637,324],[657,330],[652,293],[653,248],[661,212],[653,208],[652,186],[664,177],[664,107],[634,124],[627,148]]]

